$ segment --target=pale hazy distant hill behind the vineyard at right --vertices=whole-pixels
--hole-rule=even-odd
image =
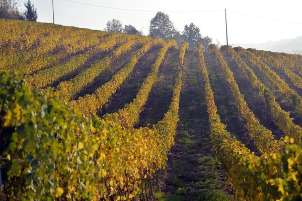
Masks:
[[[258,44],[235,44],[234,47],[241,46],[243,48],[255,48],[259,50],[294,53],[293,50],[302,52],[302,36],[293,39],[282,39],[280,41],[269,41]]]

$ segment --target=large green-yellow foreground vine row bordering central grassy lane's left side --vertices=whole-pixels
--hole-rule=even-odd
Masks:
[[[0,76],[1,125],[13,128],[2,154],[9,198],[129,200],[141,179],[166,166],[179,119],[181,69],[165,118],[152,130],[132,131],[30,90],[19,74]]]

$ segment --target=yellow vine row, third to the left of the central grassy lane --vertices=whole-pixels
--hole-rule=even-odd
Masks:
[[[79,107],[84,114],[96,114],[97,110],[102,108],[111,95],[115,93],[117,88],[129,76],[138,60],[152,47],[163,46],[164,44],[165,41],[163,39],[154,39],[144,44],[142,48],[130,58],[130,61],[115,75],[113,75],[110,81],[97,88],[92,95],[86,94],[84,97],[80,97],[77,101],[73,100],[70,102],[70,105],[73,107]]]

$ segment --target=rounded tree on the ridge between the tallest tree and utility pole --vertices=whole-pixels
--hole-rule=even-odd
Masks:
[[[188,42],[189,50],[194,50],[197,48],[197,42],[201,41],[200,30],[196,25],[190,23],[190,25],[185,25],[183,31],[183,38]]]

